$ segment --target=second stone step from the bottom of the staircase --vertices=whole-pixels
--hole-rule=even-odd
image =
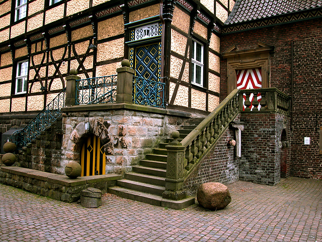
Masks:
[[[116,186],[136,190],[143,193],[154,194],[162,196],[163,192],[166,191],[164,186],[157,186],[147,183],[141,183],[140,181],[121,179],[116,181]]]

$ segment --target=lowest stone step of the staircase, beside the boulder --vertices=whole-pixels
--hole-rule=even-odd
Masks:
[[[136,200],[143,203],[148,203],[159,207],[167,207],[167,208],[172,208],[177,210],[189,207],[195,203],[195,198],[193,197],[188,197],[186,199],[174,201],[174,200],[164,199],[161,196],[142,193],[142,192],[121,188],[121,187],[111,187],[108,189],[108,192],[123,198],[128,198],[128,199]]]

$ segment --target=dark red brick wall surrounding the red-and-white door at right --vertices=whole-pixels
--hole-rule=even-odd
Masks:
[[[224,35],[221,52],[232,45],[238,50],[258,47],[258,41],[274,46],[270,54],[270,87],[291,96],[291,52],[293,40],[293,119],[290,133],[290,174],[322,179],[322,155],[318,131],[322,126],[322,24],[320,19]],[[227,95],[226,60],[221,59],[220,99]],[[310,145],[304,145],[310,137]]]

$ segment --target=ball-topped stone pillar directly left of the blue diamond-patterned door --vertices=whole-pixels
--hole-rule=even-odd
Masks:
[[[116,69],[117,72],[117,103],[132,103],[133,74],[134,70],[129,68],[128,59],[123,59],[122,67]]]

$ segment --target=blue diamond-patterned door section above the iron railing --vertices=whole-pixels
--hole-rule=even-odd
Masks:
[[[136,47],[135,76],[158,81],[158,44]]]

